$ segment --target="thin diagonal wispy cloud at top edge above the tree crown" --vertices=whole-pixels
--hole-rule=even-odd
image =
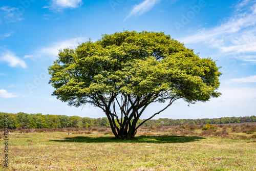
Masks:
[[[150,11],[159,1],[161,0],[145,0],[139,5],[135,5],[131,10],[130,14],[126,16],[124,20],[133,15],[142,15],[147,11]]]

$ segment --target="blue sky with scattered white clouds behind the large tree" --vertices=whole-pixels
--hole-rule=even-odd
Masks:
[[[172,119],[256,115],[256,1],[14,0],[0,2],[0,112],[99,118],[92,105],[51,96],[47,68],[60,49],[123,30],[164,32],[216,60],[222,96],[176,101],[155,116]],[[166,104],[148,106],[146,119]]]

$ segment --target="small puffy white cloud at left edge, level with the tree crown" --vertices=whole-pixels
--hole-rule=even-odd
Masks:
[[[15,54],[10,51],[2,53],[0,61],[8,62],[10,67],[20,66],[22,68],[27,68],[25,61],[15,56]]]

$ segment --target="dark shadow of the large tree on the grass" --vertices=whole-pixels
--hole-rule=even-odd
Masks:
[[[113,137],[66,137],[60,140],[51,140],[55,142],[84,142],[84,143],[184,143],[194,142],[205,139],[203,137],[195,136],[146,136],[146,137],[135,137],[131,140],[115,139]]]

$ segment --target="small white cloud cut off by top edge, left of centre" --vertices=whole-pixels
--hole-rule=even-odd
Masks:
[[[82,0],[53,0],[52,8],[78,8],[83,4]]]

